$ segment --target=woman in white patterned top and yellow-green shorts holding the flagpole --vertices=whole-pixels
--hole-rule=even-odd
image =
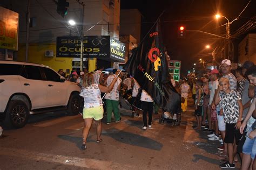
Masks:
[[[100,93],[107,93],[111,91],[116,83],[117,78],[115,77],[109,86],[105,87],[94,82],[93,74],[87,73],[84,77],[83,88],[80,92],[80,96],[84,97],[84,129],[83,129],[83,145],[82,149],[86,149],[86,139],[93,120],[96,124],[97,143],[102,142],[102,118],[103,118],[103,103]]]

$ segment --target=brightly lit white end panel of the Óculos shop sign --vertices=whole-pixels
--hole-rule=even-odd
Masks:
[[[118,60],[119,62],[125,61],[125,44],[111,38],[110,40],[110,58]]]

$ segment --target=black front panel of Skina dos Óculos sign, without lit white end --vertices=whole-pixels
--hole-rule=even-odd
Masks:
[[[110,36],[83,37],[84,58],[107,58],[109,56]],[[79,37],[57,37],[57,57],[80,58],[81,40]]]

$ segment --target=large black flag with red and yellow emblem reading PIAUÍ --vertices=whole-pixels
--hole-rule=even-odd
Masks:
[[[161,108],[171,113],[181,112],[181,97],[170,82],[159,19],[138,47],[133,49],[123,68]]]

